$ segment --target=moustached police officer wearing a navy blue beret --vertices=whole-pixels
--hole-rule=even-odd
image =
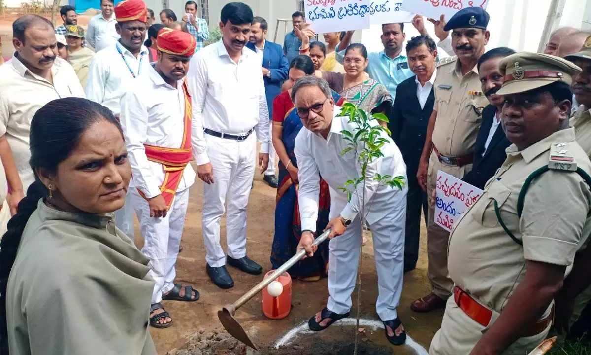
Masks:
[[[419,162],[418,184],[432,196],[437,170],[456,178],[472,169],[476,135],[482,110],[488,105],[483,95],[476,63],[489,40],[486,30],[489,15],[479,7],[465,8],[447,22],[457,57],[441,60],[434,83],[435,107],[427,128],[427,139]],[[433,292],[411,305],[415,312],[443,308],[451,295],[452,281],[447,276],[447,240],[449,233],[435,224],[434,209],[429,210],[427,249],[428,276]]]

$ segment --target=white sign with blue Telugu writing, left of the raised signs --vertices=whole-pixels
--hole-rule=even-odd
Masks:
[[[361,30],[369,28],[370,4],[370,0],[304,0],[304,12],[316,33]]]

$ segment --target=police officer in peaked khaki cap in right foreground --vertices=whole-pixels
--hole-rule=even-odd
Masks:
[[[591,162],[569,128],[567,60],[517,53],[505,75],[507,159],[450,235],[455,284],[431,355],[523,355],[544,340],[553,298],[591,231]]]

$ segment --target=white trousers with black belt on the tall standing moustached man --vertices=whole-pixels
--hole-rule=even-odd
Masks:
[[[203,240],[207,264],[220,267],[226,264],[220,246],[220,218],[226,202],[228,256],[246,256],[246,205],[255,173],[256,135],[237,141],[205,134],[205,139],[214,183],[203,184]]]

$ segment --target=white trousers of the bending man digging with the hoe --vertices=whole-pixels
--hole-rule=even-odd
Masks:
[[[370,224],[378,272],[378,300],[375,307],[382,321],[398,317],[396,308],[400,304],[404,273],[406,195],[405,187],[404,190],[395,192],[395,199],[390,204],[373,206],[390,209],[384,218]],[[330,218],[337,217],[340,211],[342,208],[331,208]],[[327,308],[338,314],[349,312],[352,306],[351,293],[357,279],[361,232],[361,220],[358,217],[349,225],[345,234],[333,238],[329,244],[330,297]],[[364,284],[367,287],[367,283]]]

